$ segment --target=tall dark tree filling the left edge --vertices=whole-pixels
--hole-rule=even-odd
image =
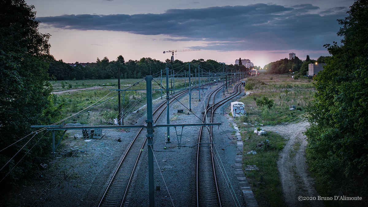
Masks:
[[[40,22],[35,20],[33,9],[24,0],[0,1],[1,149],[31,133],[31,125],[50,124],[60,115],[59,109],[53,105],[52,87],[47,82],[48,63],[53,60],[49,53],[50,35],[38,32]],[[0,152],[0,166],[5,166],[0,171],[0,179],[4,178],[0,191],[10,189],[9,186],[15,186],[17,181],[32,176],[40,169],[40,164],[47,162],[51,141],[47,133],[43,137],[42,134],[35,134],[8,164],[29,138]],[[4,192],[0,194],[5,195]],[[0,203],[6,205],[5,201]]]

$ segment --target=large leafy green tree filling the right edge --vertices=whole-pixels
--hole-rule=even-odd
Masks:
[[[330,58],[316,76],[307,158],[330,194],[367,199],[368,172],[368,2],[356,0],[337,20],[342,45],[326,44]],[[337,190],[336,190],[337,189]],[[350,203],[360,206],[362,203]]]

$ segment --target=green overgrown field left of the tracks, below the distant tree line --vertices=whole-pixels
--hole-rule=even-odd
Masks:
[[[130,85],[137,83],[142,79],[121,79],[121,89],[127,88]],[[156,81],[159,83],[160,80]],[[92,105],[96,101],[105,97],[102,101],[107,98],[116,95],[116,91],[110,91],[109,89],[117,89],[117,79],[106,79],[106,80],[77,80],[77,81],[67,81],[68,83],[72,83],[72,89],[77,88],[86,88],[92,86],[112,86],[109,88],[98,88],[96,90],[81,90],[53,95],[54,102],[57,104],[63,105],[63,115],[64,117],[68,117],[74,113],[77,113],[86,107]],[[69,90],[68,84],[64,83],[65,87],[61,88],[61,81],[52,81],[54,86],[54,91],[60,90]],[[166,87],[166,82],[163,80],[164,87]],[[176,80],[175,88],[184,88],[184,85],[188,87],[188,80]],[[169,88],[171,87],[171,83],[169,82]],[[121,93],[121,107],[123,113],[129,115],[130,112],[137,110],[140,106],[146,104],[146,91],[140,91],[141,89],[146,88],[146,81],[142,81],[138,85],[135,85],[129,90],[137,90],[137,91],[125,91]],[[152,81],[152,89],[160,89],[160,86]],[[109,94],[110,93],[110,94]],[[108,95],[109,94],[109,95]],[[153,90],[152,98],[159,98],[161,96],[161,91]],[[163,96],[166,96],[166,93],[163,92]],[[100,102],[102,102],[100,101]],[[98,103],[100,103],[98,102]],[[108,101],[96,106],[93,109],[90,109],[89,112],[86,112],[78,117],[70,120],[71,123],[81,123],[81,124],[89,124],[89,125],[100,125],[107,124],[108,122],[114,123],[113,119],[118,116],[118,96],[115,96]],[[125,122],[125,124],[130,122]]]

